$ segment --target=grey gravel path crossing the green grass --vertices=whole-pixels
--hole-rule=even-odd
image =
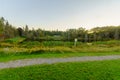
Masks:
[[[9,61],[7,63],[0,63],[0,69],[4,68],[15,68],[30,66],[36,64],[53,64],[59,62],[84,62],[84,61],[101,61],[101,60],[111,60],[111,59],[120,59],[120,55],[111,55],[111,56],[85,56],[85,57],[71,57],[71,58],[35,58],[35,59],[24,59]]]

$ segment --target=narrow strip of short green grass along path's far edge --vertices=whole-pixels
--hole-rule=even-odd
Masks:
[[[32,59],[32,58],[67,58],[67,57],[82,57],[82,56],[107,56],[107,55],[120,55],[119,52],[97,52],[97,53],[57,53],[45,52],[38,54],[17,53],[17,54],[0,54],[0,62],[7,62],[19,59]]]

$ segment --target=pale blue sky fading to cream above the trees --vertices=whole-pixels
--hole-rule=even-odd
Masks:
[[[45,30],[118,26],[120,0],[0,0],[0,17]]]

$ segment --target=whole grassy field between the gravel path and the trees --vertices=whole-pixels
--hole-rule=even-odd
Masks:
[[[78,56],[119,55],[120,41],[91,43],[62,41],[25,41],[25,38],[8,39],[0,43],[0,62],[26,58],[61,58]]]

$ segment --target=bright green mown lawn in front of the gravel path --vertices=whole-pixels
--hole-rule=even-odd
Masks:
[[[120,80],[120,60],[3,69],[0,80]]]

